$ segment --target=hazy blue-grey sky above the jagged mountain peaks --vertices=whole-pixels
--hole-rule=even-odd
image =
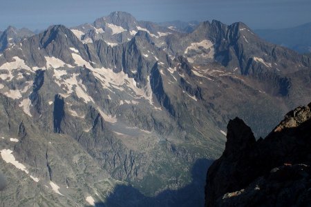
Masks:
[[[0,0],[0,30],[77,26],[113,11],[138,20],[243,21],[250,28],[286,28],[311,21],[310,0]]]

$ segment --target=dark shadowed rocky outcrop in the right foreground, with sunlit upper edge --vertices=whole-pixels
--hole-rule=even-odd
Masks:
[[[229,121],[223,155],[207,172],[205,206],[310,206],[311,103],[288,112],[265,139]]]

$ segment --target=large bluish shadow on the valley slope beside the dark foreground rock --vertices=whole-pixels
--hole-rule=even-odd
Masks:
[[[204,206],[206,172],[212,163],[198,159],[191,169],[191,184],[178,190],[164,190],[156,197],[147,197],[133,186],[118,185],[105,203],[95,206]]]

